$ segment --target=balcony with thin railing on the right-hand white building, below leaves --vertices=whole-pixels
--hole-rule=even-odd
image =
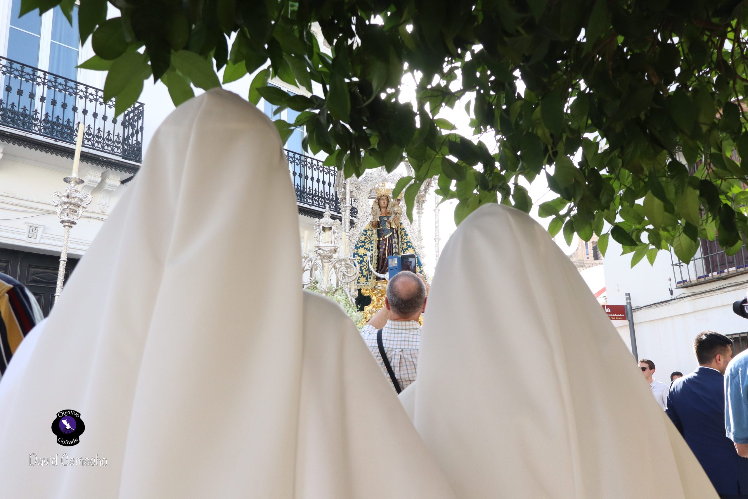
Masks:
[[[717,281],[748,272],[748,248],[745,245],[738,253],[729,256],[717,241],[701,239],[699,251],[691,263],[673,259],[672,276],[675,287],[695,286],[705,281]]]

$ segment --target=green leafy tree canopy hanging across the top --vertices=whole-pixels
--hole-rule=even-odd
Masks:
[[[438,176],[438,194],[459,200],[458,223],[483,203],[527,212],[518,180],[542,175],[557,194],[539,206],[550,232],[596,233],[603,252],[612,236],[632,265],[668,246],[688,261],[699,238],[735,253],[748,235],[747,1],[111,3],[120,16],[106,19],[105,0],[81,0],[78,16],[96,52],[83,67],[109,71],[105,97],[118,111],[150,76],[178,105],[190,84],[221,85],[216,70],[227,83],[269,61],[248,99],[302,111],[276,121],[281,136],[303,124],[304,147],[346,177],[407,158],[408,209]],[[23,0],[22,12],[57,4],[73,13],[73,0]],[[404,73],[417,82],[414,105],[399,102]],[[286,94],[271,76],[309,91],[317,82],[322,97]],[[466,101],[467,136],[437,117]],[[473,140],[485,134],[496,150]]]

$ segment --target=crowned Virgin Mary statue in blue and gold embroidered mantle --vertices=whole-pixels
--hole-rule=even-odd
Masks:
[[[372,203],[371,221],[364,227],[358,238],[353,257],[358,262],[358,287],[369,286],[375,281],[384,280],[389,266],[387,257],[402,254],[416,255],[416,272],[423,274],[423,265],[416,248],[408,236],[408,231],[400,221],[402,208],[399,199],[392,199],[392,189],[378,187],[376,199]],[[369,255],[371,255],[371,260]],[[371,265],[370,265],[371,263]],[[375,272],[372,272],[372,269]],[[379,274],[379,275],[377,275]]]

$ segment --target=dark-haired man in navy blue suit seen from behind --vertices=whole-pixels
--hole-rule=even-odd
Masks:
[[[715,331],[696,336],[699,368],[676,379],[667,397],[667,415],[699,459],[723,499],[748,496],[748,459],[735,453],[725,435],[723,375],[732,359],[732,341]]]

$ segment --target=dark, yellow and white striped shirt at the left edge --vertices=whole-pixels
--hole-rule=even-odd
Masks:
[[[0,274],[0,375],[5,373],[21,340],[43,319],[37,309],[39,304],[23,284]]]

